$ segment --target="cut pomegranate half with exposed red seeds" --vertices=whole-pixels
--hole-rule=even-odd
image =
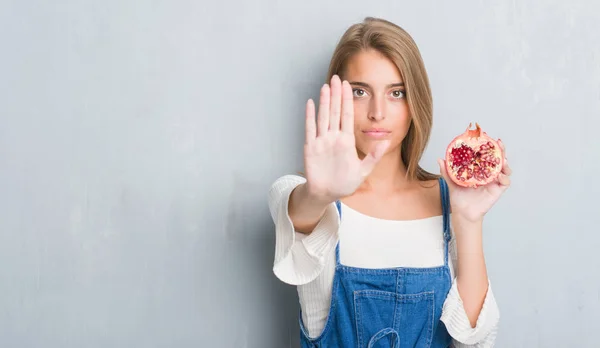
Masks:
[[[476,188],[496,180],[504,165],[504,154],[479,124],[475,123],[474,130],[471,125],[448,145],[446,170],[457,185]]]

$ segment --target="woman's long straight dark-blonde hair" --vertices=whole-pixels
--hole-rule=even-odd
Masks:
[[[350,26],[333,52],[326,81],[330,81],[334,74],[343,79],[348,60],[354,54],[369,49],[377,50],[396,64],[404,80],[411,122],[402,141],[401,157],[408,178],[419,181],[437,179],[439,175],[429,173],[419,165],[431,134],[433,101],[417,44],[404,29],[373,17],[366,17],[362,23]]]

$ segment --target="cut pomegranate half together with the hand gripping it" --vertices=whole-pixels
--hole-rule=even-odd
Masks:
[[[450,190],[452,215],[476,222],[508,189],[512,170],[501,140],[489,137],[478,124],[475,130],[469,128],[452,140],[438,164]]]

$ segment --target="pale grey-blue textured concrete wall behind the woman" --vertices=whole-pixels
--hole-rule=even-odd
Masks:
[[[266,193],[351,23],[405,27],[432,82],[423,165],[507,145],[488,215],[498,347],[595,347],[595,1],[2,1],[0,346],[296,347]]]

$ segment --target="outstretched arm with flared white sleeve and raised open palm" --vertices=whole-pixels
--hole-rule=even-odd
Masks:
[[[305,284],[319,275],[337,243],[339,217],[333,202],[360,186],[389,145],[378,143],[364,159],[358,157],[352,102],[352,87],[337,75],[331,89],[321,88],[318,118],[314,102],[307,102],[306,179],[286,176],[269,191],[276,226],[273,272],[286,283]]]

